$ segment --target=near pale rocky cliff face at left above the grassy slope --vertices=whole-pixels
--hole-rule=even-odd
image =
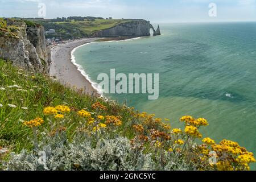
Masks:
[[[44,27],[22,20],[2,19],[0,57],[34,72],[49,72],[50,51],[46,48]]]

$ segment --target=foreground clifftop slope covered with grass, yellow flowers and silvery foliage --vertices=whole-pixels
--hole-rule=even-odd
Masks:
[[[0,60],[2,169],[248,170],[255,162],[236,142],[203,139],[206,119],[180,121],[184,128],[173,129],[168,119],[87,96]],[[47,159],[39,163],[42,152]],[[217,163],[209,164],[214,157]]]

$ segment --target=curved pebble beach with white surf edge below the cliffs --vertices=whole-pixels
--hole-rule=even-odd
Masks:
[[[86,94],[98,94],[102,96],[101,90],[97,89],[97,85],[94,85],[85,70],[81,68],[81,65],[75,62],[73,52],[81,46],[92,42],[118,42],[125,40],[140,39],[138,38],[85,38],[66,41],[64,43],[57,44],[51,49],[51,65],[49,75],[56,78],[63,85],[75,86],[76,89],[83,89]]]

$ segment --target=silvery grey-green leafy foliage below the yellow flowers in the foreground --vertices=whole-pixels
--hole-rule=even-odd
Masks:
[[[11,154],[4,164],[6,170],[151,170],[150,155],[135,151],[127,138],[101,139],[97,144],[89,137],[77,137],[68,142],[56,136],[39,143],[34,152],[23,150]],[[46,163],[40,163],[40,151],[46,153]]]

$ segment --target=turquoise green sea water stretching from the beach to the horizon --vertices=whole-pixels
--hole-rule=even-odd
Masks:
[[[204,137],[235,140],[256,154],[256,23],[162,24],[161,36],[92,43],[74,53],[92,81],[99,73],[159,73],[159,99],[110,94],[170,118],[207,118]],[[256,169],[256,166],[253,166]]]

